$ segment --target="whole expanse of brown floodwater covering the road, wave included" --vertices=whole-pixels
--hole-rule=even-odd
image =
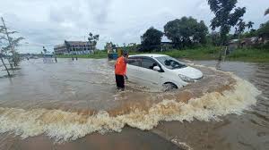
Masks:
[[[216,62],[195,62],[204,79],[164,93],[117,92],[105,59],[22,62],[0,78],[0,148],[268,149],[269,64],[200,64]]]

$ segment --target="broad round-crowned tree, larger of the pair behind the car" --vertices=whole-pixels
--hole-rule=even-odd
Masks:
[[[169,21],[164,26],[164,34],[177,48],[205,44],[208,29],[204,21],[197,22],[192,17],[182,17],[180,20]]]

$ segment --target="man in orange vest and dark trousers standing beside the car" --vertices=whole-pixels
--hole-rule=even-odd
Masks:
[[[117,83],[117,89],[125,89],[125,76],[126,76],[126,66],[128,63],[128,52],[123,51],[122,55],[117,58],[115,63],[115,77]]]

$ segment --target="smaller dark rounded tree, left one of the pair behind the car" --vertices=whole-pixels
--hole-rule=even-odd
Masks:
[[[153,27],[151,27],[150,29],[147,29],[146,32],[141,37],[142,51],[152,52],[152,50],[160,47],[162,36],[163,36],[163,33],[158,29],[154,29]]]

